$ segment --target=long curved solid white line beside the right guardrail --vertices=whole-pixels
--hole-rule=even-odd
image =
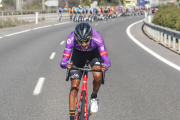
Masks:
[[[144,46],[142,43],[140,43],[136,38],[134,38],[131,33],[130,33],[130,29],[133,25],[142,22],[143,20],[140,20],[138,22],[135,22],[131,25],[128,26],[128,28],[126,29],[126,33],[128,34],[128,36],[131,38],[132,41],[134,41],[137,45],[139,45],[141,48],[143,48],[144,50],[146,50],[148,53],[150,53],[151,55],[153,55],[154,57],[156,57],[157,59],[161,60],[162,62],[166,63],[167,65],[175,68],[176,70],[180,71],[180,66],[170,62],[169,60],[163,58],[162,56],[158,55],[157,53],[153,52],[152,50],[150,50],[149,48],[147,48],[146,46]]]

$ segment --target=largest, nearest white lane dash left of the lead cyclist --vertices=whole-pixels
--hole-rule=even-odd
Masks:
[[[45,78],[43,77],[39,78],[36,84],[36,87],[34,89],[33,95],[39,95],[41,93],[44,81],[45,81]]]

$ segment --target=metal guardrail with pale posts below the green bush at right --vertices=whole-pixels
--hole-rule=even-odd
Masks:
[[[180,31],[176,31],[167,27],[155,25],[149,22],[152,15],[143,20],[145,29],[149,35],[164,46],[180,53]]]

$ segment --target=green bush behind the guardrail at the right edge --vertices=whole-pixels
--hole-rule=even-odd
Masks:
[[[156,25],[180,31],[180,8],[175,4],[160,5],[152,21]]]

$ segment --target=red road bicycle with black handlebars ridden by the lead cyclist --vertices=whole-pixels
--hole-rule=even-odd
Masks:
[[[71,67],[71,70],[80,70],[83,72],[83,84],[79,95],[79,102],[76,107],[75,120],[89,120],[89,117],[91,115],[91,104],[90,100],[88,99],[87,91],[88,72],[102,72],[102,84],[104,84],[105,81],[105,72],[101,71],[100,69],[90,69],[89,64],[90,62],[87,61],[84,68]],[[66,81],[69,80],[69,73],[70,70],[67,69]]]

